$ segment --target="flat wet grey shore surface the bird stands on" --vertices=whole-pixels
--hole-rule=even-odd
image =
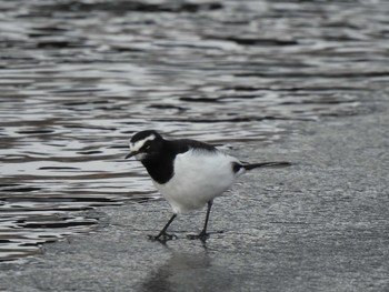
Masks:
[[[310,134],[268,148],[235,150],[298,163],[250,172],[217,199],[206,248],[184,236],[201,228],[202,212],[179,217],[179,239],[162,245],[147,235],[169,217],[164,201],[98,208],[93,233],[44,245],[23,264],[1,263],[0,290],[383,291],[389,109],[381,105],[302,122],[295,130]]]

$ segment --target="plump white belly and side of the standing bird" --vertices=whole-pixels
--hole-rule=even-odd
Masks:
[[[239,162],[222,152],[189,150],[176,157],[170,181],[153,183],[174,213],[184,213],[202,208],[231,187],[237,177],[231,164],[235,161]]]

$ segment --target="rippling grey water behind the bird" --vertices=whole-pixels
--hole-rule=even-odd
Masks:
[[[385,0],[12,0],[0,14],[0,261],[93,231],[84,210],[157,199],[123,161],[136,131],[269,147],[388,91]]]

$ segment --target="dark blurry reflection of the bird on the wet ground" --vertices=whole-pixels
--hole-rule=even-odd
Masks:
[[[228,291],[228,269],[212,264],[207,250],[172,251],[167,263],[150,274],[140,291]]]

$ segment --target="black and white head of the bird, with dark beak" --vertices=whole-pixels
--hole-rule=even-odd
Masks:
[[[163,138],[154,130],[147,130],[136,133],[130,139],[130,153],[126,159],[136,157],[137,160],[143,161],[160,153],[163,144]]]

